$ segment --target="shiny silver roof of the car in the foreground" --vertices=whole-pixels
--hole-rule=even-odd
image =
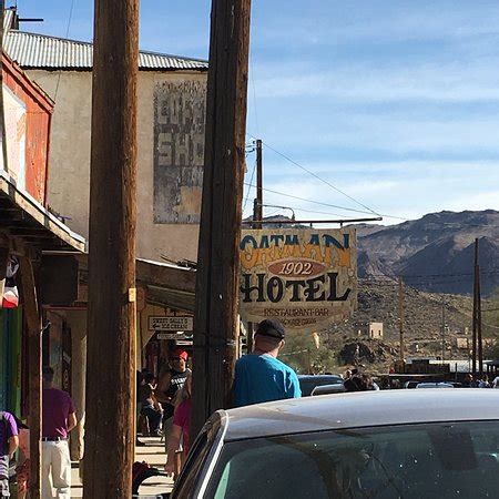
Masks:
[[[225,440],[369,426],[499,419],[499,390],[385,390],[323,395],[222,411]]]

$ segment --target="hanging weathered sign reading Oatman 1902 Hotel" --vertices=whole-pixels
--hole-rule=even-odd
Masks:
[[[240,306],[244,320],[277,318],[318,330],[357,305],[354,228],[242,231]]]

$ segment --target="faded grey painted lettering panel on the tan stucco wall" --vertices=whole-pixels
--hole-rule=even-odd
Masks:
[[[203,186],[206,83],[154,89],[154,223],[198,224]]]

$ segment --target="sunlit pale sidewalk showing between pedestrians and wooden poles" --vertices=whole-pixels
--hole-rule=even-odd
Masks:
[[[147,465],[162,470],[166,462],[166,455],[164,452],[164,444],[160,441],[160,437],[140,437],[140,439],[146,445],[144,447],[136,447],[135,461],[145,461]],[[72,469],[71,479],[71,497],[83,497],[83,486],[78,468]],[[171,478],[153,477],[144,481],[139,492],[141,497],[155,497],[157,493],[170,492],[172,487],[173,480]]]

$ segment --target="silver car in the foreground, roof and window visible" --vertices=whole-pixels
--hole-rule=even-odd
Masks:
[[[493,498],[499,391],[386,390],[218,410],[171,499]]]

